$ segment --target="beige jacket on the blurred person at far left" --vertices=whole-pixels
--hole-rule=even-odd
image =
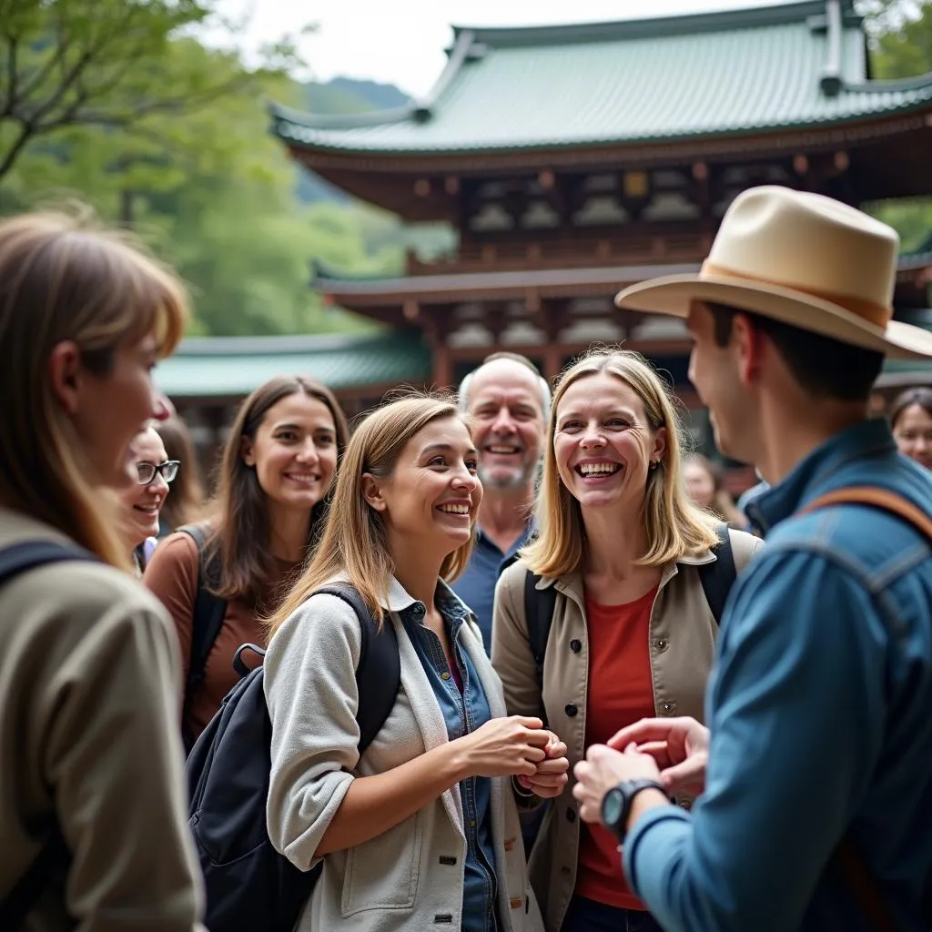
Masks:
[[[0,547],[69,542],[0,508]],[[0,598],[0,899],[62,830],[24,932],[200,929],[178,736],[178,647],[129,574],[93,563],[33,569]]]

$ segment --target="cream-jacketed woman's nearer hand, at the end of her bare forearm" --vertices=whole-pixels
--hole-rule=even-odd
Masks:
[[[547,758],[552,734],[540,719],[513,715],[492,719],[473,733],[450,742],[461,755],[463,777],[529,776]]]

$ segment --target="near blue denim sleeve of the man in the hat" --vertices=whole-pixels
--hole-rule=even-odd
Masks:
[[[798,928],[880,752],[883,620],[817,551],[765,549],[719,650],[706,793],[637,821],[625,875],[667,932]]]

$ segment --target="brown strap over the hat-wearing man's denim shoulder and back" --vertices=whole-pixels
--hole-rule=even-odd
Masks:
[[[896,492],[876,486],[850,486],[826,492],[806,505],[802,514],[815,512],[829,505],[843,504],[882,508],[908,521],[913,528],[925,535],[926,540],[932,541],[932,519],[921,508],[917,508]],[[884,902],[880,884],[871,875],[867,862],[861,857],[850,834],[845,834],[835,849],[834,861],[857,899],[858,908],[867,919],[871,932],[897,932],[897,924]]]

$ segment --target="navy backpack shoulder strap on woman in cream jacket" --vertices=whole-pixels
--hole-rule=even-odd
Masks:
[[[356,612],[363,631],[363,642],[356,667],[356,685],[359,689],[359,752],[364,754],[391,715],[402,681],[401,656],[398,653],[398,636],[394,625],[385,621],[380,626],[350,583],[334,583],[318,589],[328,596],[343,599]]]

